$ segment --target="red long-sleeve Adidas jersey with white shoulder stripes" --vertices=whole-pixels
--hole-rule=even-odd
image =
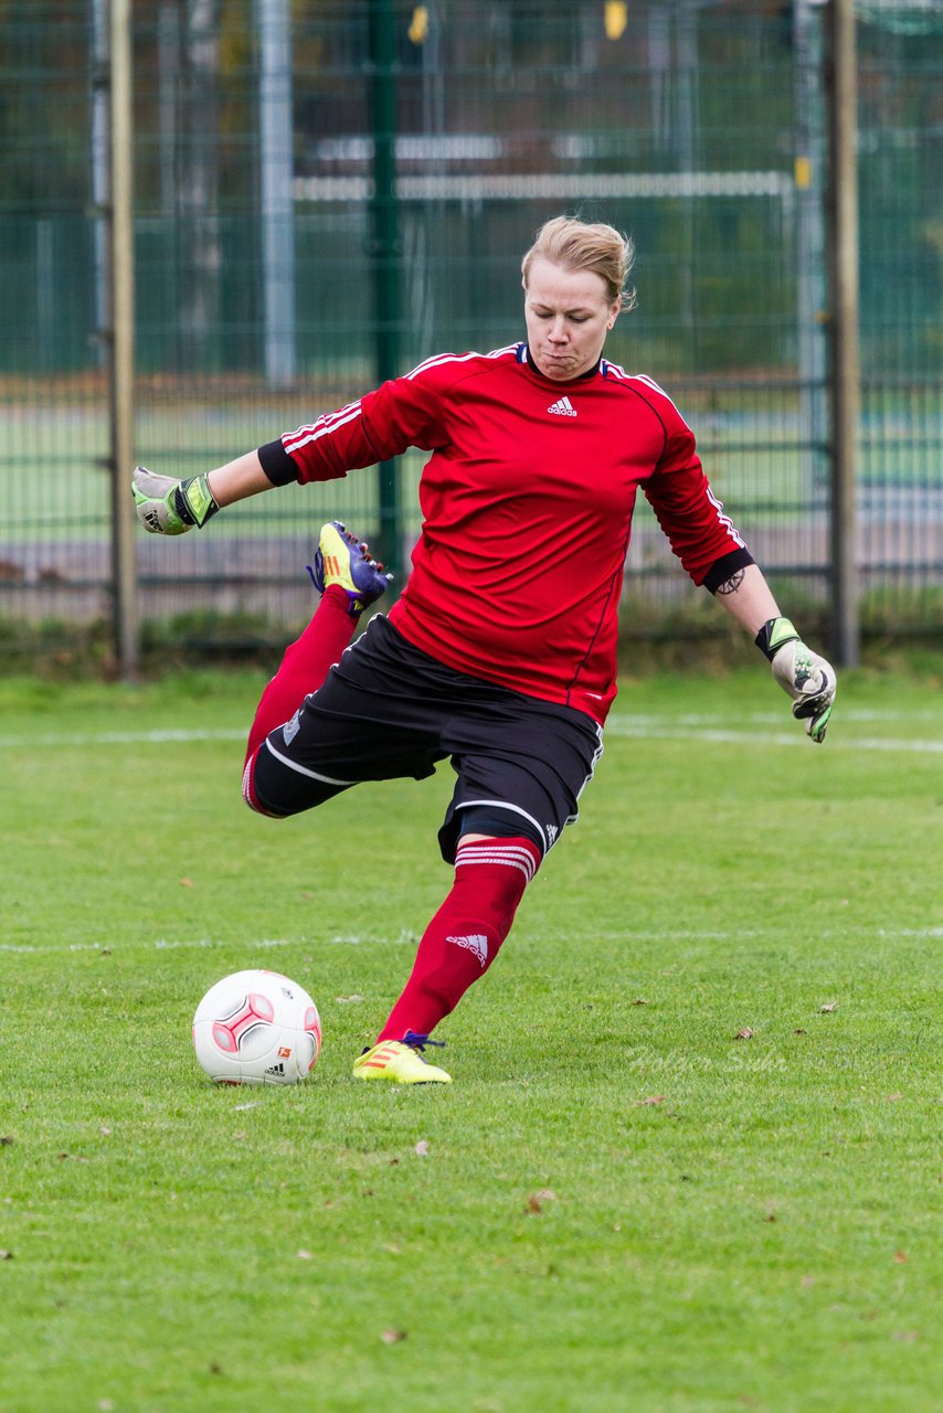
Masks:
[[[696,584],[744,550],[674,403],[607,360],[560,383],[525,343],[444,353],[281,438],[301,482],[407,447],[431,455],[413,571],[390,622],[461,673],[598,722],[615,697],[638,489]]]

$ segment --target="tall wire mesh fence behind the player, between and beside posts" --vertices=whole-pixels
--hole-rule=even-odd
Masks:
[[[607,356],[696,431],[795,613],[830,603],[826,6],[137,0],[136,444],[195,475],[433,352],[523,336],[558,212],[638,247]],[[0,3],[0,649],[107,623],[106,0]],[[943,603],[943,11],[857,8],[865,632]],[[277,640],[324,519],[400,574],[418,456],[137,544],[146,629]],[[130,471],[130,468],[129,468]],[[639,507],[626,634],[693,591]]]

